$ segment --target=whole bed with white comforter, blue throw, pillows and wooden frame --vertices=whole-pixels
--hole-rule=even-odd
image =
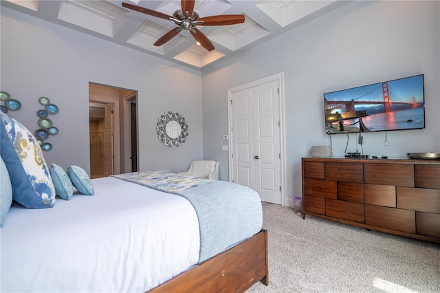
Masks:
[[[32,133],[0,116],[1,292],[244,292],[268,284],[267,231],[250,188],[154,171],[90,180],[72,165],[63,176],[75,188],[65,197]]]

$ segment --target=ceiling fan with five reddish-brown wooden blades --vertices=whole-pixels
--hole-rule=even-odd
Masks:
[[[181,0],[181,10],[174,12],[173,16],[126,2],[122,2],[122,7],[142,12],[153,17],[168,19],[174,21],[174,23],[178,25],[177,28],[174,28],[161,36],[154,43],[155,46],[164,45],[164,43],[177,36],[181,30],[189,30],[194,39],[196,39],[200,45],[206,50],[212,51],[214,50],[214,45],[212,45],[211,41],[205,34],[203,34],[203,32],[195,28],[197,25],[233,25],[245,21],[245,16],[243,14],[224,14],[199,18],[199,14],[194,11],[194,4],[195,0]]]

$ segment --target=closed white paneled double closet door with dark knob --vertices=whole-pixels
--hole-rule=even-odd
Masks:
[[[232,180],[281,204],[278,80],[231,95]]]

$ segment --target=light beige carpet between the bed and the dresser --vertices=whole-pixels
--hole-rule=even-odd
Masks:
[[[263,202],[269,286],[259,292],[440,292],[440,244],[307,216]]]

